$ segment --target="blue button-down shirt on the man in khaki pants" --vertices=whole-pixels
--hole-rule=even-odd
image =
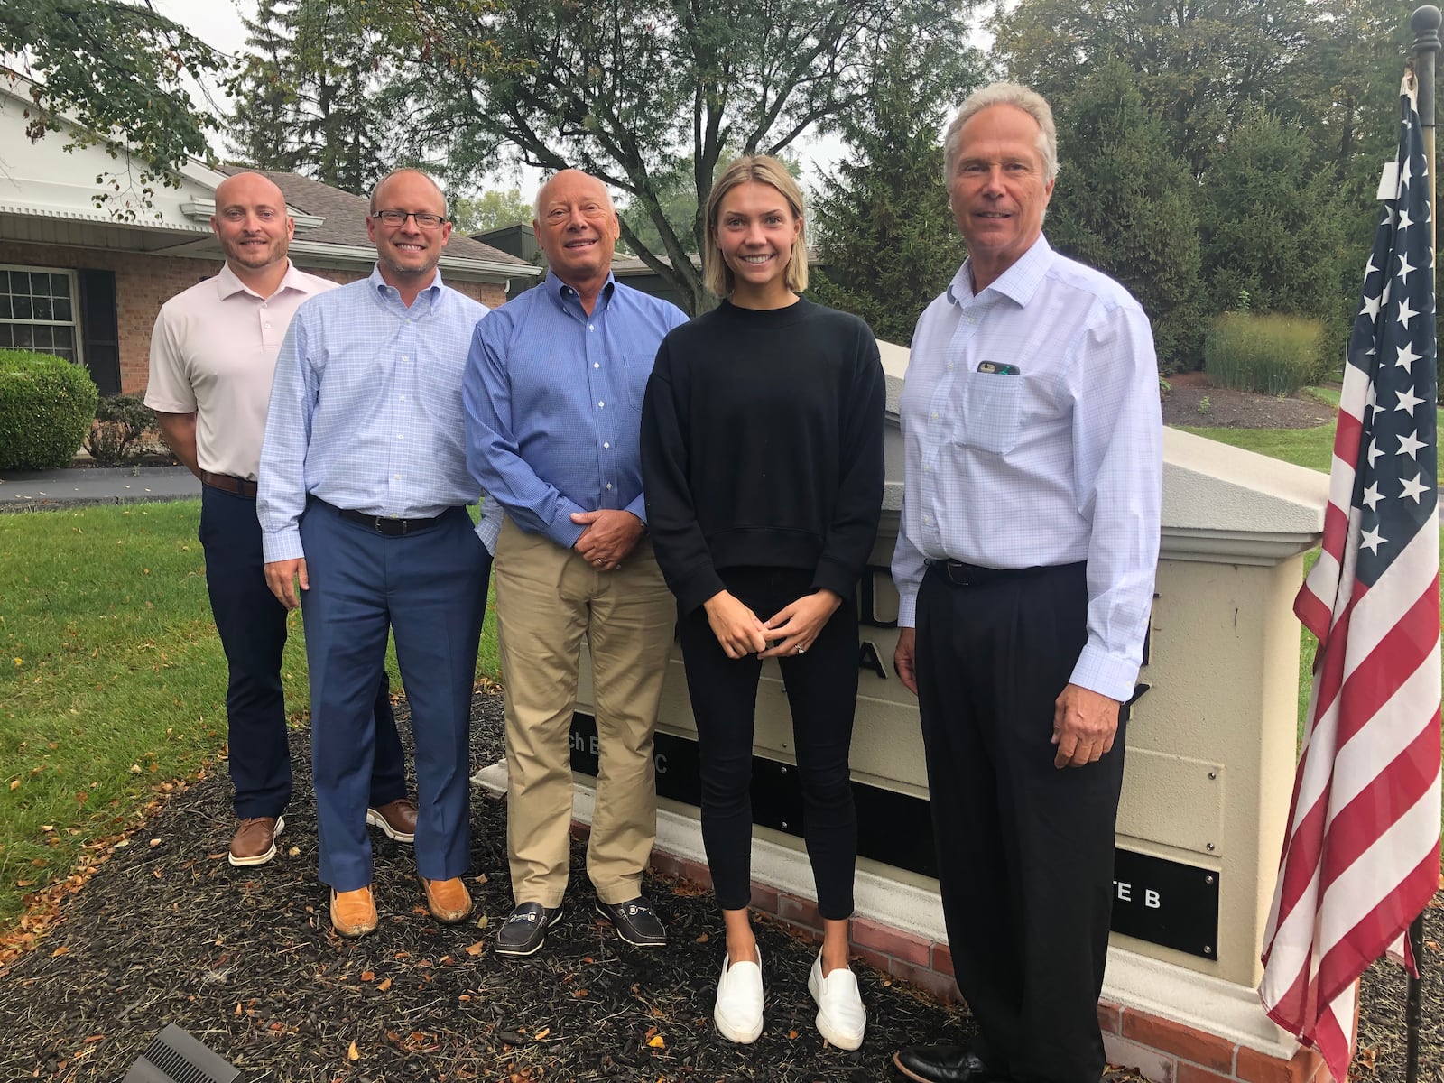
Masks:
[[[592,315],[546,280],[477,325],[466,361],[466,464],[517,526],[567,549],[575,511],[645,523],[641,401],[663,336],[686,313],[608,277]],[[478,529],[495,550],[500,523]]]

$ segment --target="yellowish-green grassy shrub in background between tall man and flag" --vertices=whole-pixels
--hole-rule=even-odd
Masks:
[[[1225,312],[1203,342],[1203,371],[1216,387],[1294,394],[1324,374],[1318,319]]]

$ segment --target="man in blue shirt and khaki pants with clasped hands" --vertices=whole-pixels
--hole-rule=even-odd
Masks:
[[[466,462],[505,510],[497,627],[505,683],[507,853],[516,908],[497,953],[537,952],[562,915],[572,823],[570,723],[582,635],[601,767],[586,872],[618,936],[667,933],[641,895],[657,833],[653,731],[676,605],[645,536],[641,403],[657,345],[686,321],[611,274],[606,188],[567,169],[537,195],[546,280],[477,325]]]

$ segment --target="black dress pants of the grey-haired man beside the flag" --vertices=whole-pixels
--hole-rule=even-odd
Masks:
[[[1053,765],[1054,700],[1087,640],[1083,565],[950,582],[917,601],[917,682],[943,913],[973,1051],[1024,1083],[1097,1083],[1123,719]]]

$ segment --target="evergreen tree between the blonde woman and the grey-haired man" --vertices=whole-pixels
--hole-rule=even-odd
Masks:
[[[900,344],[913,339],[918,315],[966,256],[943,179],[944,107],[915,71],[928,52],[950,56],[947,81],[959,98],[976,84],[975,56],[960,43],[920,51],[915,33],[898,35],[877,65],[869,108],[839,118],[849,155],[810,208],[822,264],[810,295]]]

